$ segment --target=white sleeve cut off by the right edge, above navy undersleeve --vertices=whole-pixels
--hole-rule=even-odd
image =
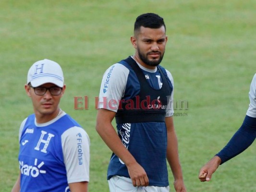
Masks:
[[[250,86],[249,99],[250,104],[246,115],[256,118],[256,74],[254,75]]]

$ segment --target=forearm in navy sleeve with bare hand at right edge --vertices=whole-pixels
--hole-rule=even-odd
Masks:
[[[199,180],[209,181],[220,164],[242,153],[254,142],[255,138],[256,118],[246,115],[242,126],[232,136],[229,143],[200,169]]]

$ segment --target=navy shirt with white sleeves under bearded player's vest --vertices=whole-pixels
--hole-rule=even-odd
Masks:
[[[145,78],[154,89],[162,87],[162,78],[158,69],[149,70],[137,63],[145,74]],[[173,87],[171,73],[162,68],[167,77],[170,89]],[[129,64],[116,63],[104,73],[98,108],[117,112],[119,101],[133,98],[140,92],[140,83]],[[149,93],[150,95],[150,93]],[[166,117],[173,115],[173,91],[169,97]],[[168,186],[166,162],[167,132],[165,122],[138,122],[117,124],[117,132],[122,144],[145,169],[150,186]],[[114,175],[130,177],[127,167],[121,159],[112,154],[108,168],[108,179]]]

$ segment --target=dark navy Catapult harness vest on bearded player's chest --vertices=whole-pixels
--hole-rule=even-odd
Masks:
[[[170,100],[172,85],[168,84],[167,76],[157,66],[162,78],[162,87],[158,90],[152,88],[138,64],[128,57],[123,60],[134,70],[140,83],[140,92],[131,99],[122,99],[115,115],[116,123],[135,122],[165,122],[166,108]]]

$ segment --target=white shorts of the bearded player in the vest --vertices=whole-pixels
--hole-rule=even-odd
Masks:
[[[130,178],[113,176],[109,181],[110,192],[169,192],[170,187],[134,187]]]

